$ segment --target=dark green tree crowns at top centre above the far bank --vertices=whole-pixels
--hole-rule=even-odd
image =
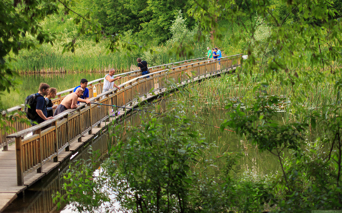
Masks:
[[[92,0],[86,4],[93,10],[93,16],[112,34],[132,30],[146,43],[161,44],[171,38],[170,26],[179,10],[186,14],[191,0],[177,1],[111,1]],[[186,26],[192,28],[194,20],[186,19]]]

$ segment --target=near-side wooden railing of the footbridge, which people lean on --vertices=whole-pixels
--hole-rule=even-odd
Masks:
[[[241,54],[221,58],[221,70],[236,67],[241,63]],[[165,88],[166,78],[174,79],[175,82],[191,80],[196,76],[203,76],[218,71],[216,61],[197,61],[163,69],[150,74],[129,79],[119,86],[121,90],[113,89],[91,97],[90,101],[116,106],[129,106],[139,97]],[[195,73],[195,74],[193,74]],[[150,76],[149,78],[146,78]],[[94,82],[94,81],[93,81]],[[95,85],[101,88],[103,82]],[[59,100],[61,100],[62,96]],[[63,150],[68,151],[70,142],[81,140],[81,136],[92,128],[107,120],[109,116],[116,113],[118,109],[111,106],[96,104],[81,104],[77,109],[68,109],[61,114],[32,126],[17,133],[8,135],[7,138],[15,138],[17,184],[23,185],[24,176],[37,171],[42,172],[45,163],[54,159],[57,161],[58,154]],[[47,129],[43,130],[47,126]],[[32,136],[24,138],[28,133]]]

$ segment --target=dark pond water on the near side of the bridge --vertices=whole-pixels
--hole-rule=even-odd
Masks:
[[[163,101],[165,102],[165,100]],[[161,104],[161,106],[165,106],[165,104]],[[150,105],[147,106],[145,110],[152,111],[154,108],[153,105]],[[125,125],[139,125],[141,122],[140,115],[140,112],[133,113],[124,120]],[[226,112],[218,109],[207,109],[202,110],[199,113],[199,117],[202,119],[196,121],[220,126],[222,119],[226,118]],[[281,114],[279,114],[278,119],[281,119]],[[162,121],[172,122],[172,120],[167,118],[162,119]],[[266,152],[260,153],[255,146],[252,146],[247,141],[239,138],[234,132],[221,132],[219,128],[199,123],[192,123],[192,127],[202,130],[202,133],[207,138],[208,142],[214,142],[217,145],[217,148],[212,150],[214,156],[216,155],[219,157],[225,152],[242,154],[238,159],[236,166],[233,168],[236,174],[244,171],[250,171],[253,174],[273,174],[276,170],[280,169],[277,158]],[[89,145],[92,146],[93,150],[100,150],[100,152],[103,153],[102,158],[105,159],[108,151],[108,141],[108,133],[104,133],[94,138],[89,142],[88,147],[79,150],[70,160],[63,163],[59,168],[53,170],[43,179],[25,190],[25,194],[13,201],[4,212],[71,212],[72,206],[70,205],[64,206],[60,211],[56,211],[55,205],[52,203],[52,193],[56,191],[63,193],[61,190],[63,179],[61,178],[69,165],[75,165],[75,161],[79,159],[90,159]],[[94,176],[96,175],[96,172],[97,170],[94,171]],[[220,172],[220,169],[218,168],[215,172]]]

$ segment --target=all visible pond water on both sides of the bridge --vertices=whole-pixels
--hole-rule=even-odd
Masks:
[[[2,96],[2,103],[6,108],[10,108],[24,102],[25,97],[28,94],[32,94],[38,91],[40,82],[48,83],[51,87],[57,88],[58,91],[63,91],[68,88],[72,88],[79,85],[81,78],[86,78],[88,81],[104,77],[105,73],[65,73],[65,74],[46,74],[46,75],[25,75],[18,76],[16,79],[22,81],[21,85],[18,85],[17,91],[11,91],[10,93],[4,92]],[[169,98],[169,101],[171,98]],[[165,108],[165,99],[158,102],[162,108]],[[156,103],[155,103],[156,104]],[[147,111],[152,111],[155,106],[147,104]],[[274,174],[280,169],[278,159],[269,152],[259,152],[255,145],[245,141],[244,138],[240,138],[237,134],[231,131],[221,132],[219,128],[213,126],[220,126],[222,121],[227,118],[226,111],[219,108],[204,108],[197,112],[201,118],[195,118],[193,120],[202,122],[192,123],[194,129],[201,130],[203,136],[208,142],[216,144],[216,148],[211,150],[213,157],[219,158],[224,153],[240,153],[240,157],[233,168],[235,174],[239,174],[245,171],[249,171],[252,174],[268,175]],[[133,113],[130,117],[127,117],[124,121],[125,124],[139,125],[141,113]],[[189,115],[188,115],[189,116]],[[278,113],[274,120],[279,122],[283,121],[285,113]],[[164,118],[162,122],[173,122],[172,119]],[[311,130],[311,135],[308,136],[308,140],[314,139],[317,135],[320,135],[318,130]],[[108,151],[108,134],[102,134],[94,138],[88,145],[92,146],[93,150],[100,150],[103,154],[102,158],[106,158]],[[50,172],[47,176],[40,181],[30,186],[25,190],[23,196],[19,196],[12,204],[5,209],[4,212],[57,212],[55,205],[52,203],[51,195],[53,192],[59,191],[61,193],[61,185],[63,184],[64,172],[68,169],[69,165],[75,165],[75,162],[79,159],[90,159],[89,146],[82,148],[77,154],[71,157],[68,161],[64,162],[59,168]],[[97,170],[94,171],[96,174]],[[218,167],[214,173],[219,173]],[[58,212],[71,212],[71,206],[64,206],[62,210]]]

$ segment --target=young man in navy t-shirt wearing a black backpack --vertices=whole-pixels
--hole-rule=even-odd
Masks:
[[[38,92],[36,93],[36,112],[38,116],[35,117],[35,119],[31,120],[31,124],[34,126],[36,125],[34,122],[37,122],[38,124],[53,119],[53,117],[48,117],[48,111],[46,108],[46,101],[44,96],[48,94],[50,86],[47,83],[40,83]]]

